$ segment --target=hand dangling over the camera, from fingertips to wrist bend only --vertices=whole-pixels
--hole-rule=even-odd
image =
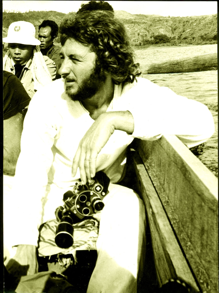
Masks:
[[[112,117],[104,113],[95,120],[81,139],[73,159],[72,176],[76,175],[77,168],[79,167],[82,184],[85,184],[87,179],[91,180],[95,176],[97,155],[105,146],[114,130]]]

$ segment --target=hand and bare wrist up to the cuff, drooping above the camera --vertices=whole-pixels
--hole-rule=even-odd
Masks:
[[[130,112],[117,111],[101,114],[81,139],[73,159],[72,176],[76,175],[79,167],[82,184],[95,176],[97,155],[116,129],[129,133],[134,131],[133,116]]]

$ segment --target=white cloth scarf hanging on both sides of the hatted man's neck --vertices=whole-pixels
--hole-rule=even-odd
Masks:
[[[3,58],[3,70],[11,72],[10,66],[11,55],[8,52]],[[31,75],[34,80],[34,90],[39,90],[41,86],[45,86],[52,81],[51,74],[48,71],[43,54],[40,52],[39,46],[33,50],[33,59],[30,67]]]

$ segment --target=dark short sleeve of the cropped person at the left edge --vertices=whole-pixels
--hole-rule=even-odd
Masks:
[[[3,115],[11,118],[29,105],[30,97],[20,80],[12,73],[3,71]]]

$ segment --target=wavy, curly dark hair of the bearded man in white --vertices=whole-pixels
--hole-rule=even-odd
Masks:
[[[68,38],[91,45],[96,65],[111,74],[115,84],[133,82],[140,74],[134,63],[124,25],[110,11],[84,11],[65,18],[60,25],[60,42]]]

